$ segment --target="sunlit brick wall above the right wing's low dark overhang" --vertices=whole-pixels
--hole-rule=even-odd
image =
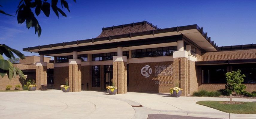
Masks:
[[[206,52],[202,55],[202,61],[235,60],[256,58],[256,49]]]

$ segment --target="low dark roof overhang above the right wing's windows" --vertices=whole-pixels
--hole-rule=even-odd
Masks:
[[[241,59],[241,60],[216,60],[216,61],[197,61],[195,65],[228,65],[228,64],[246,64],[256,63],[256,59]]]

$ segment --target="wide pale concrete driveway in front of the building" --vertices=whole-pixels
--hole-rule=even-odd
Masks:
[[[196,104],[197,101],[229,101],[229,98],[180,97],[160,93],[108,95],[101,91],[62,93],[60,90],[0,92],[0,118],[20,119],[131,119],[149,114],[208,118],[256,118],[256,114],[229,114]],[[255,99],[233,98],[234,101]],[[142,105],[143,107],[141,107]]]

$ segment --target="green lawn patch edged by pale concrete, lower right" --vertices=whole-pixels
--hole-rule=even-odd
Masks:
[[[218,109],[222,112],[235,114],[256,114],[256,102],[243,102],[243,104],[222,104],[225,101],[198,101],[196,104]]]

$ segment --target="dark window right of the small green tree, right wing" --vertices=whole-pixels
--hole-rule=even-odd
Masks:
[[[241,70],[241,74],[245,75],[243,83],[256,84],[256,64],[237,64],[233,65],[233,71]]]

